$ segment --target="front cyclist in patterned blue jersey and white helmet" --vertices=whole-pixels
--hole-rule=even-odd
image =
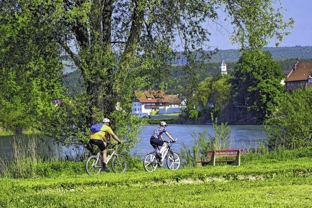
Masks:
[[[153,146],[154,149],[158,149],[158,146],[161,146],[159,152],[156,154],[158,158],[161,160],[161,154],[166,149],[166,142],[164,142],[164,139],[162,137],[162,133],[165,133],[169,139],[172,140],[172,142],[176,142],[172,136],[167,132],[167,124],[164,121],[161,121],[159,123],[159,126],[156,128],[156,130],[153,132],[151,136],[150,143]]]

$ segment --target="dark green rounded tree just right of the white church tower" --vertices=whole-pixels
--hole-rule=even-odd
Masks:
[[[251,50],[242,55],[235,67],[233,79],[234,104],[252,111],[260,118],[270,116],[285,89],[281,66],[269,52]]]

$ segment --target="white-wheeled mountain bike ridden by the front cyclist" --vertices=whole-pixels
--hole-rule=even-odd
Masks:
[[[173,144],[172,141],[164,141],[166,142],[167,148],[161,155],[161,160],[156,157],[156,152],[147,153],[143,160],[144,170],[148,172],[153,172],[157,167],[163,166],[163,161],[166,159],[167,168],[169,170],[177,170],[180,167],[180,157],[176,152],[171,150],[171,146]]]

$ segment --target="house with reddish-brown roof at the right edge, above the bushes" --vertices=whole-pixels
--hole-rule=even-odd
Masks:
[[[297,61],[285,80],[286,91],[312,86],[312,62]]]

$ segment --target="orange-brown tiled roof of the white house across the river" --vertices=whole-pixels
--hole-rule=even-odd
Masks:
[[[168,103],[163,90],[135,90],[135,95],[141,103]]]

